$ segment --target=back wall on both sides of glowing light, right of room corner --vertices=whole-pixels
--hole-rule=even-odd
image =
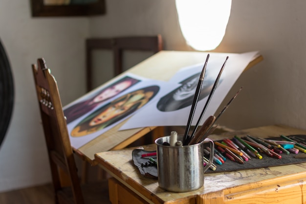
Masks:
[[[214,51],[259,50],[264,61],[244,72],[229,92],[221,108],[243,86],[235,102],[220,118],[221,125],[240,129],[278,123],[304,128],[305,10],[303,0],[232,1],[226,34]],[[107,16],[90,20],[90,34],[159,33],[165,49],[192,50],[185,44],[175,12],[175,0],[111,0]],[[210,19],[203,19],[203,26],[205,21]]]

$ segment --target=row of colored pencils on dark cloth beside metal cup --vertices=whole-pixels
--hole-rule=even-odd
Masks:
[[[262,155],[282,159],[282,154],[306,153],[306,139],[298,136],[280,136],[280,140],[272,140],[254,136],[234,136],[232,139],[215,141],[214,165],[212,170],[216,170],[218,165],[222,165],[227,159],[243,164],[253,159],[262,159]],[[204,150],[204,165],[207,164],[210,149]],[[206,161],[206,162],[205,162]],[[217,165],[216,165],[217,164]]]

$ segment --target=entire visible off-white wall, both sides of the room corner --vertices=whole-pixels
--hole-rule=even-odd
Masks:
[[[281,123],[305,129],[305,11],[304,0],[233,0],[225,37],[214,51],[259,50],[264,61],[234,85],[227,99],[244,88],[221,125],[240,129]],[[35,59],[46,58],[66,104],[85,92],[87,36],[153,34],[162,35],[167,50],[191,50],[180,33],[174,0],[107,0],[107,14],[89,19],[32,19],[28,1],[0,2],[0,38],[16,86],[13,120],[0,149],[0,191],[49,181],[42,130],[33,128],[39,117],[30,71]]]

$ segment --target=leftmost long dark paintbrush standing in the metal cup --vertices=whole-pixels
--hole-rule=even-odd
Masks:
[[[202,88],[202,84],[203,84],[203,80],[204,80],[204,75],[205,75],[205,71],[206,71],[206,66],[207,66],[208,58],[209,58],[209,54],[207,54],[206,61],[204,63],[204,66],[202,68],[202,72],[200,74],[200,77],[199,77],[199,80],[198,80],[198,83],[197,83],[197,89],[196,89],[196,92],[195,92],[194,100],[193,100],[192,105],[191,105],[191,110],[190,110],[190,113],[189,113],[186,130],[185,130],[185,134],[184,134],[184,137],[183,137],[183,145],[188,144],[188,141],[190,139],[188,137],[188,133],[189,133],[191,122],[192,122],[192,119],[194,117],[195,110],[196,110],[196,107],[197,107],[198,97],[199,97],[200,92],[201,92],[201,88]]]

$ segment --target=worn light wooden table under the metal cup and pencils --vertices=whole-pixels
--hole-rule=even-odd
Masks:
[[[261,137],[306,134],[283,125],[251,128],[222,135],[212,139],[245,136]],[[154,150],[155,145],[143,146]],[[306,195],[306,162],[232,171],[205,173],[204,186],[186,193],[168,192],[158,187],[157,180],[140,175],[132,163],[134,148],[98,153],[96,161],[113,178],[109,181],[109,197],[112,204],[304,204]]]

